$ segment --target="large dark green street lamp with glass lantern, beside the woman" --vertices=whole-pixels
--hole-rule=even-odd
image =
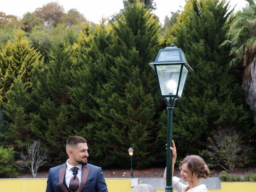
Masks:
[[[173,110],[180,99],[189,71],[193,69],[186,61],[185,54],[174,46],[160,49],[156,60],[149,64],[156,72],[161,97],[167,104],[167,149],[172,144]],[[172,151],[166,151],[166,192],[172,192]]]

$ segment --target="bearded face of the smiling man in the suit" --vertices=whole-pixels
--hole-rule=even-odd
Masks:
[[[73,150],[73,154],[75,162],[81,165],[86,165],[88,163],[87,158],[89,156],[87,143],[78,143],[76,148]]]

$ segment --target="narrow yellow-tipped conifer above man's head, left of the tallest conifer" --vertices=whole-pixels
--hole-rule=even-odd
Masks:
[[[112,59],[110,47],[114,40],[111,26],[106,25],[105,20],[96,26],[94,32],[91,29],[87,24],[78,37],[78,43],[73,45],[76,67],[71,70],[72,86],[69,87],[69,95],[72,116],[77,118],[80,123],[78,126],[81,127],[94,121],[90,110],[98,108],[94,99],[96,89],[108,79]]]

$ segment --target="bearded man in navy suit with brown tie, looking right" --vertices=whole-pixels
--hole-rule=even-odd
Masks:
[[[46,192],[108,192],[101,168],[88,164],[84,138],[68,138],[66,152],[67,162],[50,168]]]

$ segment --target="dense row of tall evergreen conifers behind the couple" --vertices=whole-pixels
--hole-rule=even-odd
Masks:
[[[50,156],[47,166],[61,164],[67,158],[66,139],[79,135],[88,141],[92,164],[126,168],[132,147],[136,168],[164,166],[166,104],[148,63],[172,41],[194,69],[174,109],[180,158],[199,154],[218,165],[207,146],[223,129],[237,132],[238,142],[255,151],[256,127],[244,102],[242,68],[230,67],[231,47],[221,46],[234,10],[225,1],[189,0],[172,27],[162,29],[145,2],[124,1],[115,20],[85,22],[76,33],[72,24],[53,26],[44,39],[47,46],[32,40],[35,28],[14,28],[15,35],[2,40],[0,146],[14,149],[15,160],[26,144],[40,140]],[[58,36],[59,31],[68,32]],[[247,163],[255,160],[252,153]]]

